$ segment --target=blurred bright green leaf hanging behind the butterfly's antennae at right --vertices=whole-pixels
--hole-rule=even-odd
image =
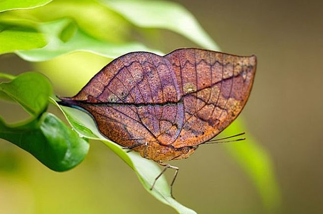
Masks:
[[[241,133],[245,131],[243,127],[241,119],[238,119],[224,130],[223,135],[231,136]],[[280,190],[267,151],[249,133],[246,133],[245,141],[229,143],[226,148],[256,185],[265,207],[270,213],[276,213],[280,206]]]

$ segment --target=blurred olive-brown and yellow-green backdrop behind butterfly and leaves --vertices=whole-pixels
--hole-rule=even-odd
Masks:
[[[323,213],[323,1],[177,2],[224,52],[258,57],[254,87],[241,117],[270,155],[281,201],[274,213]],[[115,35],[125,36],[123,30],[129,26],[115,27]],[[164,52],[197,47],[166,30],[131,33]],[[28,63],[6,54],[0,56],[0,71],[41,71],[57,94],[74,95],[108,61],[78,52]],[[27,117],[20,107],[3,102],[0,114],[12,122]],[[268,212],[226,146],[201,146],[189,159],[173,163],[181,168],[176,199],[199,214]],[[0,148],[1,214],[175,213],[146,192],[135,173],[101,142],[91,142],[81,165],[62,173],[11,143],[0,140]]]

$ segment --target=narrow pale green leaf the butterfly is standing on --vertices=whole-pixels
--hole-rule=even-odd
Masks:
[[[135,152],[127,153],[118,144],[109,141],[98,131],[93,119],[86,113],[68,107],[60,107],[53,99],[53,103],[57,105],[70,122],[71,126],[80,134],[80,136],[99,140],[105,143],[113,152],[115,152],[128,166],[130,166],[138,176],[139,181],[149,193],[154,195],[162,203],[173,207],[180,214],[196,214],[193,210],[183,206],[170,195],[169,185],[165,177],[162,175],[153,190],[150,190],[155,178],[161,172],[159,166],[153,161],[140,157]]]

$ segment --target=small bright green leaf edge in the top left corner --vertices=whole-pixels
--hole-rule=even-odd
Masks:
[[[1,0],[0,12],[17,9],[30,9],[48,4],[52,0]]]

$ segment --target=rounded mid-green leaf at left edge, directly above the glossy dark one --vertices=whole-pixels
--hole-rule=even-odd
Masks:
[[[1,82],[0,93],[9,96],[29,114],[37,117],[46,110],[48,97],[52,95],[53,89],[50,81],[43,74],[26,72],[10,82]]]

